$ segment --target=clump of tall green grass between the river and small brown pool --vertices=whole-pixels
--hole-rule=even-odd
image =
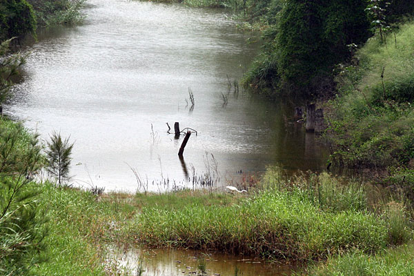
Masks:
[[[366,210],[361,186],[342,186],[326,174],[284,179],[277,171],[269,170],[264,179],[273,188],[238,204],[144,207],[126,226],[126,234],[148,246],[299,261],[351,250],[373,253],[390,244],[390,228]]]

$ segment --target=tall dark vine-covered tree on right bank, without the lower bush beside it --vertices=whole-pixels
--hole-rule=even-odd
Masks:
[[[332,70],[349,57],[346,45],[364,42],[366,0],[288,0],[282,10],[275,51],[287,90],[305,98],[333,92]]]

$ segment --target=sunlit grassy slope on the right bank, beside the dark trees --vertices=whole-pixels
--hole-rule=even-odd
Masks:
[[[338,166],[385,171],[388,183],[413,185],[413,23],[386,43],[373,37],[340,68],[339,97],[328,103],[328,140]]]

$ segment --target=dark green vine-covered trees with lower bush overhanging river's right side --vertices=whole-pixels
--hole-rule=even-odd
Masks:
[[[331,97],[333,69],[349,61],[354,44],[362,45],[375,31],[368,1],[281,2],[283,8],[268,22],[264,50],[245,76],[245,86],[270,97]],[[414,12],[408,0],[382,2],[387,26]]]

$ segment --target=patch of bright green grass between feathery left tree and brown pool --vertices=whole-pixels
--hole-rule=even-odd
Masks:
[[[104,241],[115,216],[91,193],[39,184],[41,207],[48,210],[46,262],[34,275],[106,275]]]

